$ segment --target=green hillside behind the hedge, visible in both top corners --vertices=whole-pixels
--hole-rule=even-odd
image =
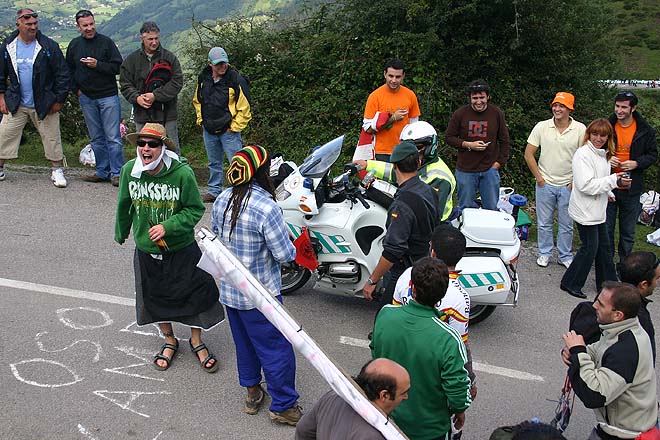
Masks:
[[[100,32],[111,36],[123,54],[138,47],[142,22],[154,20],[167,45],[174,34],[190,28],[191,19],[215,20],[235,15],[280,12],[328,0],[0,0],[0,28],[14,29],[16,8],[27,6],[41,16],[41,29],[63,46],[78,35],[73,16],[78,9],[94,12]],[[619,26],[603,29],[620,42],[621,77],[660,78],[660,2],[657,0],[594,0],[611,7]],[[595,55],[597,56],[597,54]]]

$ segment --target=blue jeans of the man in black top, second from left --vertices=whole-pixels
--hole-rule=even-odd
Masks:
[[[96,175],[102,179],[119,176],[124,165],[124,144],[119,133],[119,95],[92,99],[80,93],[78,101],[94,150]]]

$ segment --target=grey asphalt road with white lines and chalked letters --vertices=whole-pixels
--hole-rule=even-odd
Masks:
[[[160,339],[136,328],[129,240],[113,241],[116,188],[69,174],[55,188],[46,170],[8,168],[0,182],[0,438],[291,439],[267,412],[242,412],[227,323],[204,334],[220,370],[202,371],[175,327],[182,349],[166,372],[151,367]],[[208,212],[200,225],[208,225]],[[467,412],[464,439],[487,439],[497,426],[549,421],[564,383],[560,334],[577,303],[558,288],[563,268],[519,263],[520,305],[501,308],[470,331],[479,395]],[[585,292],[593,298],[589,281]],[[356,374],[375,305],[305,288],[285,305],[326,353]],[[651,305],[655,315],[657,306]],[[298,357],[300,403],[310,408],[328,390]],[[577,401],[566,432],[584,439],[594,422]]]

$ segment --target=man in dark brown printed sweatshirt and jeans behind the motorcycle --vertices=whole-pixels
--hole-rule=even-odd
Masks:
[[[445,135],[445,141],[458,149],[458,203],[461,209],[474,207],[479,190],[482,207],[497,211],[499,170],[509,160],[509,129],[502,110],[489,102],[486,81],[472,81],[467,96],[469,104],[451,115]]]

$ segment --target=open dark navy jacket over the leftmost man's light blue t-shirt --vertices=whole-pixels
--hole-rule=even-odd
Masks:
[[[5,94],[7,109],[16,114],[21,103],[21,86],[16,68],[16,39],[18,30],[12,32],[0,46],[0,93]],[[34,109],[39,119],[44,119],[53,104],[63,104],[69,92],[71,77],[62,50],[56,42],[37,31],[37,49],[32,70]]]

